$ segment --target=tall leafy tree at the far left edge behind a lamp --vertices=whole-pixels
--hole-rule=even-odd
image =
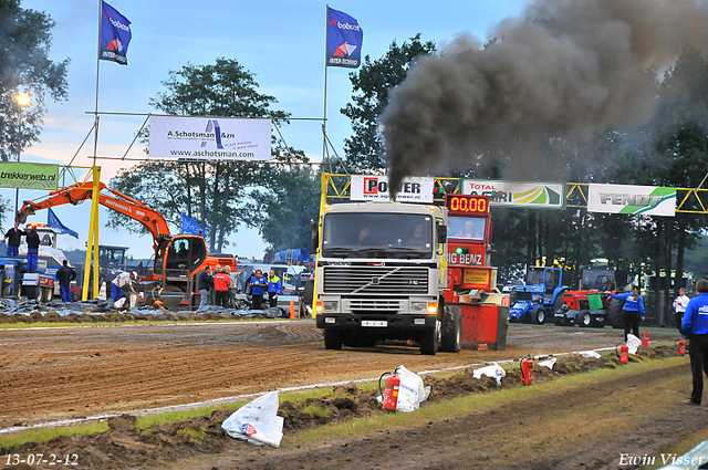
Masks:
[[[69,59],[49,59],[54,21],[44,12],[23,9],[20,0],[0,0],[0,158],[8,161],[39,140],[45,95],[66,98]],[[21,109],[14,96],[29,93]]]

